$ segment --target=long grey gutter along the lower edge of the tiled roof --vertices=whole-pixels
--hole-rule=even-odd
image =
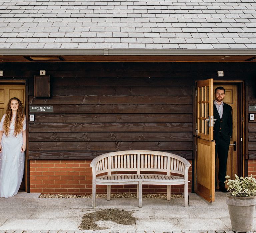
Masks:
[[[256,49],[0,49],[0,55],[256,56]]]

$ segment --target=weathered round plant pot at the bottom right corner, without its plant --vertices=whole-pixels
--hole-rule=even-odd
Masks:
[[[256,205],[256,196],[233,197],[226,195],[232,230],[235,232],[250,232],[253,227],[253,217]]]

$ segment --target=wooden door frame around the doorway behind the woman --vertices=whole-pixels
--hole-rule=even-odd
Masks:
[[[25,167],[24,167],[24,172],[25,172],[25,192],[30,192],[30,178],[29,178],[29,140],[28,140],[28,79],[1,79],[0,80],[0,85],[2,84],[23,84],[25,85],[25,116],[26,116],[26,151],[25,151]]]

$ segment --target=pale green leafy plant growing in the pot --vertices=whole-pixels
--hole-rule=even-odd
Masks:
[[[234,197],[250,197],[256,196],[256,179],[251,176],[238,177],[235,174],[235,179],[230,179],[230,176],[226,176],[226,183],[229,185],[228,190]]]

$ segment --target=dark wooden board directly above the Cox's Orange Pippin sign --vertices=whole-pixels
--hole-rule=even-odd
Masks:
[[[30,105],[45,104],[192,104],[191,95],[87,95],[87,96],[52,96],[49,99],[39,99],[29,96]]]

